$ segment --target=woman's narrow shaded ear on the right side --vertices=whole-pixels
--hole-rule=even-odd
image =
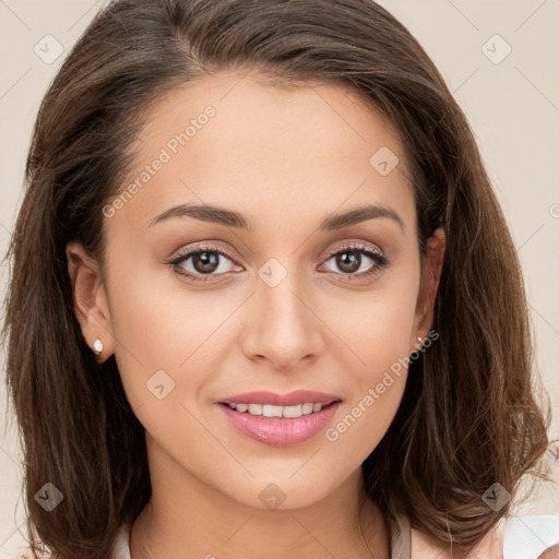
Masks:
[[[435,299],[441,277],[445,247],[447,237],[444,229],[439,227],[427,241],[427,254],[424,261],[412,331],[411,345],[414,348],[413,350],[423,346],[423,343],[417,337],[427,337],[431,330],[435,317]]]

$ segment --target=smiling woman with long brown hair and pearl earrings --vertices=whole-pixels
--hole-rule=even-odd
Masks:
[[[521,270],[376,3],[112,2],[45,96],[11,254],[34,551],[501,557],[548,445]]]

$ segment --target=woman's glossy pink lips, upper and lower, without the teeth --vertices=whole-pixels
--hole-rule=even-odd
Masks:
[[[287,418],[255,416],[248,412],[237,412],[227,405],[237,403],[289,406],[306,402],[322,404],[324,407],[309,415]],[[287,447],[305,442],[323,430],[340,407],[341,399],[322,392],[298,390],[283,395],[273,392],[250,392],[227,397],[219,404],[222,413],[240,433],[264,444]]]

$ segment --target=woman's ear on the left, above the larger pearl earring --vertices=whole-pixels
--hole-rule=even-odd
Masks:
[[[100,267],[80,242],[69,242],[66,255],[75,317],[92,352],[94,342],[97,338],[102,341],[103,352],[97,356],[97,361],[103,362],[115,352],[115,343]]]

